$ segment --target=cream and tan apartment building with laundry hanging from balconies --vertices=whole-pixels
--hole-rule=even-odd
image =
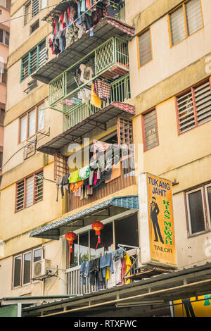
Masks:
[[[48,299],[23,316],[170,316],[170,301],[209,294],[211,4],[76,2],[11,6],[0,297]],[[143,173],[172,183],[177,272],[143,265]],[[84,277],[117,250],[121,286]]]

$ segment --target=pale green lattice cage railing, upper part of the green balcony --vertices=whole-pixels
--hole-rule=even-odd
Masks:
[[[81,65],[91,67],[93,75],[90,80],[82,85],[77,84],[75,79],[76,73]],[[49,105],[52,109],[67,113],[70,108],[65,104],[66,99],[72,97],[77,98],[78,92],[84,87],[89,87],[91,82],[97,77],[106,79],[105,73],[114,68],[123,68],[125,72],[129,72],[129,55],[127,42],[120,37],[111,37],[106,42],[98,46],[94,51],[91,51],[87,56],[84,56],[80,61],[58,75],[49,84]],[[113,82],[109,80],[108,82]]]

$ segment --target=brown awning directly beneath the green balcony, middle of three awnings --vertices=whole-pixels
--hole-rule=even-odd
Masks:
[[[77,123],[77,125],[70,127],[70,129],[54,137],[49,142],[46,142],[46,144],[37,147],[37,151],[54,155],[64,146],[74,142],[80,137],[83,137],[90,131],[96,129],[96,127],[103,128],[103,130],[105,130],[106,123],[113,118],[117,118],[117,116],[123,112],[135,115],[135,107],[122,102],[114,101],[108,106],[101,108],[96,113],[90,115],[88,118],[85,118],[82,122]]]

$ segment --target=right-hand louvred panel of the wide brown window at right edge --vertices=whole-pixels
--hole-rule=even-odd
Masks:
[[[198,124],[211,120],[211,91],[209,80],[194,88]]]

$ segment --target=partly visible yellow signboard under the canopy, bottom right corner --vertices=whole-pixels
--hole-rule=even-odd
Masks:
[[[211,295],[174,301],[174,317],[211,317]]]

